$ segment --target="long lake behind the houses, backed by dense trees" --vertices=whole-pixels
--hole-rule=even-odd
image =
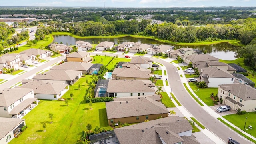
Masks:
[[[117,40],[119,40],[120,43],[122,42],[141,42],[145,44],[154,44],[154,46],[158,46],[160,44],[166,44],[163,42],[159,42],[152,39],[147,38],[133,38],[130,36],[122,37],[122,38],[74,38],[72,36],[53,36],[54,42],[63,42],[63,44],[68,45],[75,45],[75,42],[78,40],[82,40],[85,42],[90,42],[91,44],[94,42],[95,44],[98,44],[98,42],[103,41],[110,41],[115,42],[117,44]],[[170,45],[170,44],[168,44]],[[238,48],[236,46],[232,46],[228,44],[227,42],[223,42],[220,44],[212,44],[212,45],[205,45],[205,46],[179,46],[174,45],[175,48],[194,48],[198,50],[202,50],[204,52],[207,51],[207,54],[210,54],[211,56],[214,56],[216,58],[222,59],[222,60],[234,60],[235,58],[235,50]]]

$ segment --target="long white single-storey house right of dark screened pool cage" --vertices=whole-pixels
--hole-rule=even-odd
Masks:
[[[155,94],[155,85],[150,80],[109,80],[108,97],[148,96]]]

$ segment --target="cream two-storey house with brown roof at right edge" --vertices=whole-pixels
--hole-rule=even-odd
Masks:
[[[256,111],[256,89],[242,83],[221,84],[218,88],[218,96],[223,99],[223,104],[232,110]]]

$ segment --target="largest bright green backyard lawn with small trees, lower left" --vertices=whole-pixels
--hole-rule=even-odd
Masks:
[[[24,116],[28,128],[9,144],[75,144],[88,123],[92,124],[92,129],[96,126],[109,129],[105,103],[93,103],[91,110],[89,104],[84,103],[84,93],[88,88],[86,79],[90,82],[91,78],[80,78],[73,86],[69,86],[70,90],[63,96],[68,98],[68,106],[64,101],[43,100]],[[70,100],[71,92],[74,94],[73,100]],[[54,114],[52,124],[48,123],[49,113]],[[47,122],[46,132],[43,132],[42,122]]]

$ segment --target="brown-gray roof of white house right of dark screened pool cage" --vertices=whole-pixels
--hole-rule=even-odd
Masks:
[[[155,92],[155,90],[139,80],[110,80],[107,92]]]

